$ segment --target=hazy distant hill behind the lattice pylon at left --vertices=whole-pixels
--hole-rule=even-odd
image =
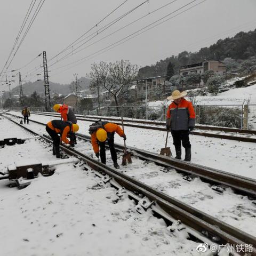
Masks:
[[[79,84],[81,86],[81,90],[89,90],[90,80],[86,77],[79,78]],[[61,93],[68,94],[70,93],[70,85],[71,84],[58,84],[58,83],[50,83],[50,93]],[[35,81],[33,83],[28,82],[22,85],[23,94],[30,95],[34,91],[38,94],[44,93],[44,81]],[[16,86],[12,89],[12,94],[19,93],[19,86]]]

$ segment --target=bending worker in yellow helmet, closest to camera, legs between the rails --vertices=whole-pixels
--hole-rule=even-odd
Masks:
[[[106,148],[105,143],[108,141],[108,146],[110,149],[111,158],[114,163],[114,167],[119,169],[117,163],[116,149],[114,145],[114,135],[115,132],[126,140],[126,136],[121,129],[121,127],[114,123],[109,122],[95,122],[90,125],[89,133],[91,134],[91,143],[95,155],[99,158],[101,163],[106,164]]]

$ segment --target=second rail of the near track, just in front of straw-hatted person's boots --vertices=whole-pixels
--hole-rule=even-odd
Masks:
[[[9,115],[12,115],[8,113]],[[15,116],[15,115],[12,115]],[[22,117],[20,117],[22,118]],[[43,124],[38,121],[30,120],[31,122],[35,122],[37,124]],[[76,133],[77,137],[80,137],[86,141],[90,141],[90,136]],[[124,147],[118,143],[115,143],[116,149],[119,151],[123,151]],[[256,180],[243,177],[241,175],[228,173],[225,171],[213,169],[211,167],[188,163],[184,161],[180,161],[178,159],[172,158],[172,157],[166,157],[163,155],[159,155],[156,153],[152,153],[150,151],[126,146],[127,149],[129,149],[134,156],[137,156],[139,158],[146,159],[151,162],[155,162],[156,164],[159,164],[164,167],[171,167],[175,169],[177,172],[182,172],[187,175],[196,175],[197,177],[200,177],[202,180],[206,180],[210,183],[217,183],[220,185],[224,185],[227,187],[230,187],[234,189],[235,191],[238,191],[241,194],[244,195],[250,195],[252,197],[256,197]]]

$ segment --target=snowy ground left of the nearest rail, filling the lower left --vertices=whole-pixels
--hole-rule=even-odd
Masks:
[[[1,139],[33,136],[6,119],[0,122]],[[24,159],[55,159],[37,139],[0,148],[0,156],[1,171]],[[39,175],[22,190],[0,180],[0,255],[200,255],[186,232],[171,233],[150,210],[139,214],[114,188],[98,187],[99,178],[87,169],[58,165],[51,177]]]

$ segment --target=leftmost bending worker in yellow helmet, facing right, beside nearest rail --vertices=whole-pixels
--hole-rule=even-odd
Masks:
[[[53,155],[60,158],[60,140],[66,144],[73,143],[71,140],[68,140],[68,137],[70,138],[73,133],[77,132],[79,126],[62,120],[52,120],[46,124],[45,130],[53,140]],[[60,134],[61,138],[58,134]]]

